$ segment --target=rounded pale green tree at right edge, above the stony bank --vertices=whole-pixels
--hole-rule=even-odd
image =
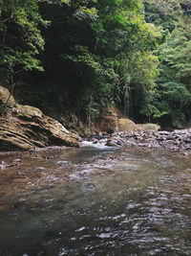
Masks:
[[[191,118],[191,41],[190,35],[176,29],[159,49],[159,79],[155,106],[159,116],[180,127]],[[158,117],[159,117],[158,116]]]

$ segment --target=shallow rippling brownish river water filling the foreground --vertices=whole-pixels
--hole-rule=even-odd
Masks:
[[[86,145],[91,146],[91,145]],[[3,157],[0,255],[191,255],[191,159],[86,147]]]

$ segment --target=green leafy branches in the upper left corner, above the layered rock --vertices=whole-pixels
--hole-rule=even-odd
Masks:
[[[22,70],[43,71],[36,56],[44,49],[39,27],[48,22],[41,18],[36,2],[4,1],[0,19],[1,74],[12,78]]]

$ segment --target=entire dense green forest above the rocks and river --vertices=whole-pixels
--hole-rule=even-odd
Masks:
[[[189,0],[0,0],[0,83],[88,125],[114,105],[135,122],[182,128],[190,18]]]

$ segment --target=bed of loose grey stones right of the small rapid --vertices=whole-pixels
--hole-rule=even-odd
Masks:
[[[93,138],[93,143],[100,143]],[[106,146],[169,151],[190,151],[191,130],[115,132],[103,140]]]

